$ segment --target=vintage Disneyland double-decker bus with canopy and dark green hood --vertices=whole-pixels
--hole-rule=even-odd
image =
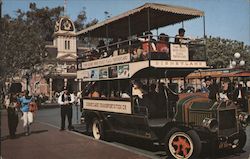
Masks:
[[[174,91],[173,78],[207,68],[204,40],[150,32],[201,18],[196,9],[147,3],[78,33],[91,41],[77,59],[77,78],[84,86],[83,123],[95,139],[109,133],[148,139],[177,159],[197,158],[203,143],[218,149],[245,145],[232,102]]]

